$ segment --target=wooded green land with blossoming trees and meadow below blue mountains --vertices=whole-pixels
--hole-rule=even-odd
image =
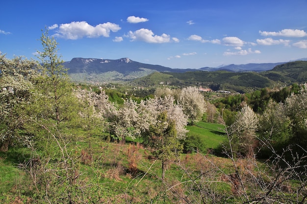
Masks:
[[[307,202],[304,62],[88,85],[40,40],[39,61],[0,53],[0,203]]]

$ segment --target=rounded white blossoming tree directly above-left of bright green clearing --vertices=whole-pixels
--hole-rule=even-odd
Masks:
[[[206,102],[202,93],[197,87],[186,87],[180,92],[178,103],[193,124],[206,112]]]

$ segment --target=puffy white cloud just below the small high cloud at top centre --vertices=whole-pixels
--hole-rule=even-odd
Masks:
[[[153,31],[141,28],[134,32],[129,31],[128,37],[132,39],[132,41],[144,41],[146,43],[169,43],[170,36],[163,33],[161,36],[154,35]]]

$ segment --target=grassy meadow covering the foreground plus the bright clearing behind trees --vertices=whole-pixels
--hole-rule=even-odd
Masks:
[[[225,139],[223,127],[197,122],[187,129],[188,135],[200,136],[205,147],[215,149]],[[229,177],[235,173],[234,166],[244,170],[241,176],[245,181],[250,179],[245,170],[256,175],[263,164],[257,161],[257,169],[250,167],[248,159],[238,159],[234,164],[231,159],[207,153],[180,154],[178,159],[168,162],[163,181],[161,160],[136,141],[107,142],[102,136],[84,136],[72,139],[65,149],[74,164],[70,165],[74,171],[67,172],[74,178],[69,184],[65,184],[68,182],[65,175],[64,180],[52,177],[52,171],[57,171],[55,167],[51,172],[46,171],[56,165],[52,160],[60,158],[50,158],[45,166],[33,163],[30,168],[26,165],[30,155],[39,156],[43,152],[14,148],[0,153],[0,203],[46,203],[47,193],[44,196],[44,192],[36,188],[43,183],[48,183],[50,203],[67,203],[68,190],[75,204],[241,203]],[[39,177],[41,169],[46,171],[43,177]],[[49,177],[45,178],[45,174]],[[48,181],[48,178],[54,180]],[[253,186],[249,187],[254,192]]]

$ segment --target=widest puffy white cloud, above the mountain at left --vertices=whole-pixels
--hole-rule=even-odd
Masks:
[[[110,32],[117,32],[121,27],[115,23],[102,23],[92,26],[85,21],[60,24],[54,36],[70,40],[77,40],[83,37],[98,38],[109,37]]]

